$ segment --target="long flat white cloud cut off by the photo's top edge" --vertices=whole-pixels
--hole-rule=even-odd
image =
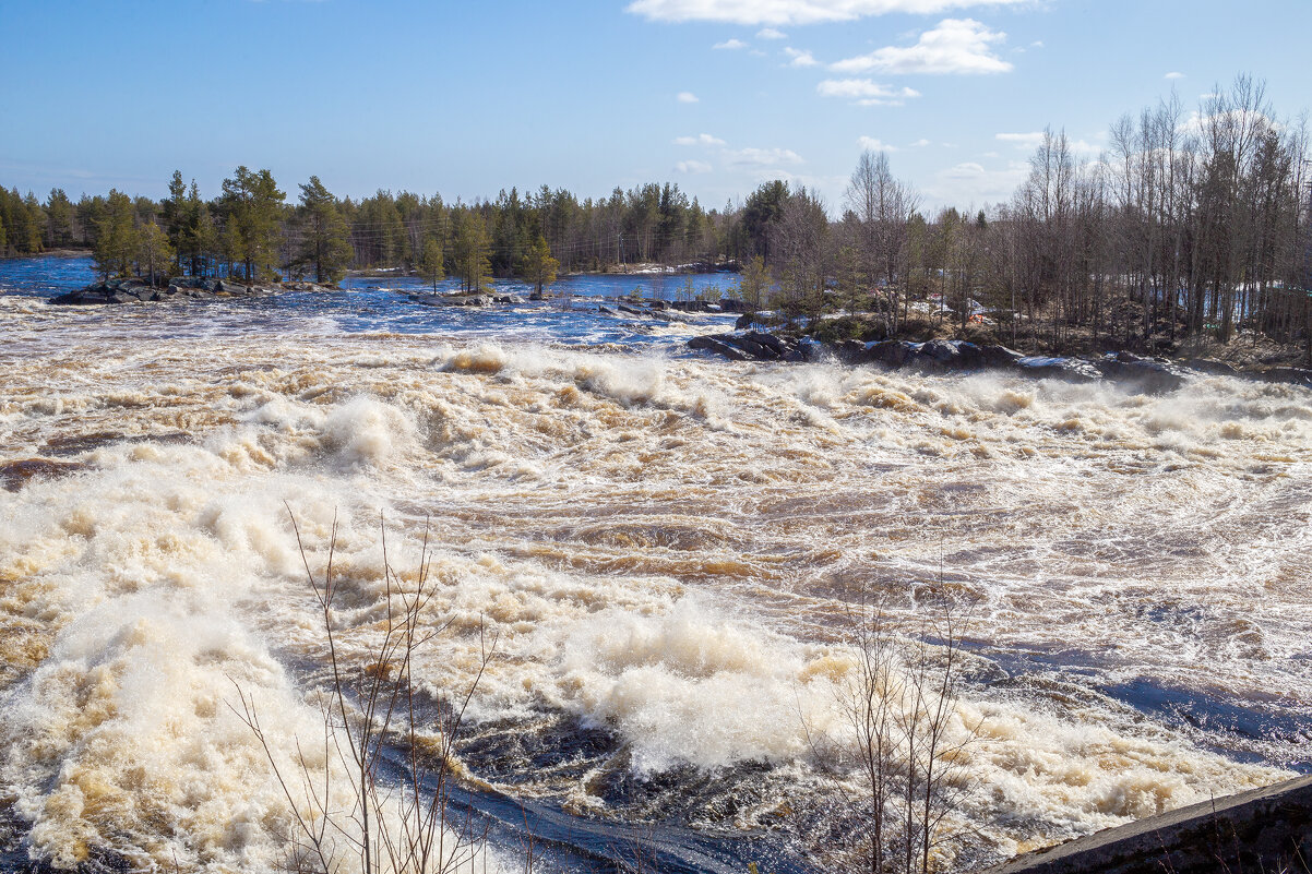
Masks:
[[[854,21],[891,13],[932,16],[949,9],[1018,5],[1027,1],[1030,0],[634,0],[626,10],[652,21],[787,25]]]

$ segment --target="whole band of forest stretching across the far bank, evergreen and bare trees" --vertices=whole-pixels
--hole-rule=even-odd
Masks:
[[[1248,331],[1312,354],[1307,131],[1275,117],[1262,83],[1241,75],[1197,110],[1172,96],[1126,114],[1096,157],[1050,129],[1029,164],[1009,201],[933,214],[887,154],[869,151],[841,203],[775,180],[711,210],[676,184],[447,203],[338,198],[312,176],[289,199],[269,171],[245,167],[205,199],[174,172],[163,201],[110,190],[73,202],[55,189],[42,202],[0,188],[0,252],[89,248],[102,276],[152,281],[335,283],[391,268],[468,290],[510,277],[541,289],[558,270],[724,265],[741,270],[750,306],[865,339],[930,310],[963,333],[988,323],[1050,349],[1158,352]]]

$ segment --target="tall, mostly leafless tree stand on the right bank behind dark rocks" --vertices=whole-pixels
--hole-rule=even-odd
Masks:
[[[1097,156],[1046,130],[1012,198],[971,213],[926,217],[867,151],[837,220],[804,188],[748,198],[760,261],[741,285],[827,331],[845,327],[827,314],[872,312],[846,324],[867,339],[929,316],[1048,349],[1174,350],[1244,329],[1312,357],[1308,164],[1305,127],[1248,76],[1194,112],[1172,96],[1122,117]]]

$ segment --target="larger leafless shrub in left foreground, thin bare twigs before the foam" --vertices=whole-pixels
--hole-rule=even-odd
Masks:
[[[417,573],[403,580],[388,559],[383,530],[387,613],[382,638],[363,665],[348,664],[333,617],[337,522],[325,571],[316,577],[290,507],[287,513],[327,639],[332,681],[320,696],[323,734],[314,751],[297,738],[289,764],[278,753],[278,739],[261,726],[256,701],[240,686],[239,703],[232,706],[262,745],[291,810],[283,869],[306,874],[472,870],[484,852],[485,828],[471,815],[451,816],[447,802],[455,780],[455,741],[495,640],[480,627],[480,661],[464,689],[436,701],[422,696],[411,673],[415,657],[449,626],[424,621],[437,593],[429,573],[429,531],[425,526]]]

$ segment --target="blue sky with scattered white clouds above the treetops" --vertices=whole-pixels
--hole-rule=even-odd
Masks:
[[[836,214],[863,148],[922,203],[1008,199],[1046,126],[1110,125],[1236,73],[1312,109],[1312,0],[0,0],[0,184],[42,199],[783,178]]]

